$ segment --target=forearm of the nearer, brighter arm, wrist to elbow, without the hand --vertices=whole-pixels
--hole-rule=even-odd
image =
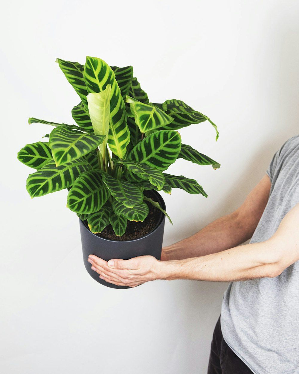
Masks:
[[[283,270],[274,240],[247,244],[185,260],[160,261],[160,279],[243,281],[274,277]]]

